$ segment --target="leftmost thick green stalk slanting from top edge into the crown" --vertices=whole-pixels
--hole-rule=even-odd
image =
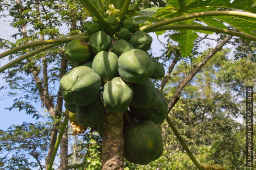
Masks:
[[[103,30],[109,34],[113,35],[114,31],[113,28],[109,27],[108,24],[105,22],[105,18],[99,13],[99,11],[94,7],[94,5],[90,2],[90,0],[79,0],[84,6],[89,10],[92,11],[94,16],[98,19],[100,25],[102,26]],[[90,11],[89,11],[90,12]]]

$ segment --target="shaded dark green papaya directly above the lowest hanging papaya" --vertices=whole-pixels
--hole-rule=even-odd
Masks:
[[[162,92],[156,89],[157,95],[154,103],[149,108],[136,108],[130,105],[130,110],[136,119],[147,119],[154,123],[161,123],[166,115],[168,103]]]

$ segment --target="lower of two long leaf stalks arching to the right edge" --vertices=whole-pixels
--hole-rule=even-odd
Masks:
[[[143,27],[141,27],[143,28]],[[215,28],[215,27],[208,27],[208,26],[201,26],[201,25],[166,25],[162,26],[156,29],[152,29],[150,31],[146,32],[154,32],[154,31],[164,31],[164,30],[204,30],[204,31],[213,31],[213,32],[218,32],[218,33],[223,33],[223,34],[228,34],[252,41],[256,41],[256,37],[248,34],[244,34],[241,32],[236,32],[236,31],[231,31],[231,30],[226,30],[226,29],[221,29],[221,28]]]

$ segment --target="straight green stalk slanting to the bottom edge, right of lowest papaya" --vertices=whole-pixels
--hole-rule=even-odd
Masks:
[[[203,170],[202,166],[197,162],[196,158],[193,156],[193,154],[191,153],[191,151],[189,150],[188,146],[186,145],[185,141],[182,139],[180,133],[178,132],[178,130],[175,128],[174,124],[172,123],[170,117],[167,115],[166,116],[166,121],[168,122],[168,124],[170,125],[170,127],[172,128],[172,131],[174,132],[175,136],[178,138],[178,140],[180,141],[183,149],[186,151],[186,153],[188,154],[188,156],[190,157],[190,159],[192,160],[192,162],[195,164],[195,166],[199,169],[199,170]]]

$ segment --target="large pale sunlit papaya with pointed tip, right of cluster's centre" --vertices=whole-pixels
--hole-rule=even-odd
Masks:
[[[118,58],[118,72],[124,81],[142,85],[154,73],[154,62],[141,49],[124,52]]]

